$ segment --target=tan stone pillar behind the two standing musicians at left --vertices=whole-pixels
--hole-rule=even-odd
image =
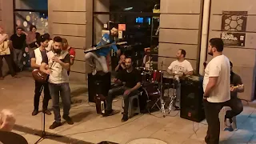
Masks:
[[[70,79],[86,80],[84,47],[92,44],[93,0],[49,0],[50,34],[66,38],[76,50],[74,66],[71,66]]]

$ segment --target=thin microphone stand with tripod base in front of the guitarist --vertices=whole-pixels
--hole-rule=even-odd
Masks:
[[[42,94],[42,90],[43,87],[41,87],[40,89],[40,94]],[[38,144],[39,142],[42,142],[42,140],[44,140],[45,138],[60,138],[62,136],[60,135],[53,135],[53,134],[46,134],[46,113],[44,113],[44,111],[42,111],[42,133],[41,134],[35,134],[40,136],[40,138],[38,139],[37,142],[34,142],[34,144]]]

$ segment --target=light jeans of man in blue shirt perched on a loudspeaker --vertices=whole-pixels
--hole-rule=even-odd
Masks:
[[[96,59],[100,63],[100,65],[102,66],[102,71],[104,73],[108,72],[108,68],[107,68],[107,65],[106,65],[106,57],[105,56],[98,56],[97,54],[89,52],[89,53],[86,54],[85,58],[86,58],[86,61],[89,62],[90,66],[93,69],[96,69],[96,64],[94,63],[94,60],[93,60],[93,59]]]

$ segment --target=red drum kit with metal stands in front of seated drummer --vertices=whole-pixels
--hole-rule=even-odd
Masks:
[[[146,109],[150,113],[155,106],[162,110],[163,117],[166,117],[166,102],[164,100],[165,90],[168,89],[168,114],[171,110],[177,110],[176,104],[176,85],[178,74],[164,74],[162,70],[146,69],[145,67],[136,68],[142,77],[142,97],[146,98]],[[169,89],[173,88],[173,93],[169,94]],[[153,103],[152,103],[153,102]],[[151,103],[151,105],[150,105]],[[153,105],[153,106],[152,106]]]

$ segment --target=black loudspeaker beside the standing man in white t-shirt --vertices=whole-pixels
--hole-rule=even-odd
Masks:
[[[202,77],[198,80],[187,78],[181,85],[180,117],[194,122],[202,122],[206,118],[203,109]]]

